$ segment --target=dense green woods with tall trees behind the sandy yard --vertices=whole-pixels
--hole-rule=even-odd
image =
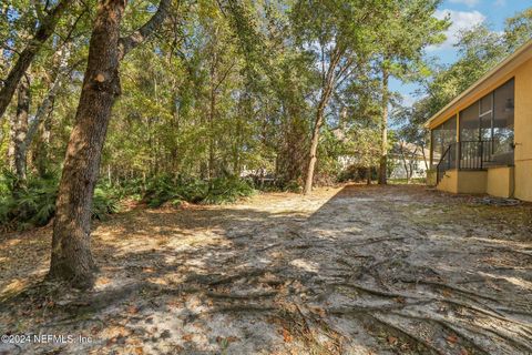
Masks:
[[[461,32],[443,64],[427,54],[451,26],[440,4],[2,1],[0,232],[53,223],[47,282],[91,290],[105,266],[93,221],[124,205],[385,185],[390,154],[410,181],[422,124],[532,38],[530,8],[503,32]],[[420,84],[420,99],[391,80]]]

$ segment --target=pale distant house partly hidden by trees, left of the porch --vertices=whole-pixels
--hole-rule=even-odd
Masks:
[[[399,141],[389,159],[393,162],[390,179],[424,179],[429,166],[430,151],[420,145]]]

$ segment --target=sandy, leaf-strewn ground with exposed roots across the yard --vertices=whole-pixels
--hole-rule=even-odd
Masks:
[[[49,227],[2,235],[0,334],[30,336],[0,354],[532,354],[532,206],[482,201],[351,185],[137,207],[94,226],[78,294],[40,282]]]

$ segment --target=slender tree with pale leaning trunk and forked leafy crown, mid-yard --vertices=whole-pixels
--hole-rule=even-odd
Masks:
[[[336,3],[300,0],[293,10],[294,31],[299,45],[315,58],[319,68],[320,88],[308,151],[304,193],[311,191],[320,130],[326,111],[338,83],[351,75],[376,49],[376,33],[383,28],[382,19],[390,11],[389,1],[346,1]]]

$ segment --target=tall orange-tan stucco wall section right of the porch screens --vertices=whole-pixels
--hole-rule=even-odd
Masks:
[[[532,60],[515,71],[515,194],[532,201]]]

